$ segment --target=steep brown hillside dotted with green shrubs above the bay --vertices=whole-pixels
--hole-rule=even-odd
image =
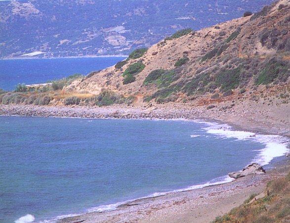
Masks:
[[[135,53],[66,90],[99,94],[107,89],[145,104],[212,104],[245,95],[255,101],[272,92],[289,103],[290,2],[280,0],[201,31],[184,30],[140,57]]]

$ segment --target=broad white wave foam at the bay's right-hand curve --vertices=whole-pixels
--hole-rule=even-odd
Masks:
[[[204,122],[206,123],[206,122]],[[251,140],[263,144],[265,147],[259,150],[259,154],[252,162],[262,166],[269,164],[275,157],[281,157],[289,152],[287,138],[280,135],[262,135],[246,131],[234,131],[227,124],[207,123],[207,133],[218,137],[236,138],[238,140]]]

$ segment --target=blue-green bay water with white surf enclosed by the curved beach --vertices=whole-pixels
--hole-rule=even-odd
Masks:
[[[286,153],[283,141],[201,120],[0,116],[0,222],[229,182],[228,172]]]

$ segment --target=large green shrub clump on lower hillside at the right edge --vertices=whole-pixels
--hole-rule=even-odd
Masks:
[[[277,80],[279,82],[286,82],[290,76],[289,68],[290,65],[288,62],[271,58],[269,61],[263,63],[264,68],[259,73],[255,84],[270,84],[273,81]]]

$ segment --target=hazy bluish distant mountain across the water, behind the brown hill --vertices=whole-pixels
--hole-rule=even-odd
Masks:
[[[0,1],[0,57],[125,55],[177,30],[200,30],[272,1]]]

